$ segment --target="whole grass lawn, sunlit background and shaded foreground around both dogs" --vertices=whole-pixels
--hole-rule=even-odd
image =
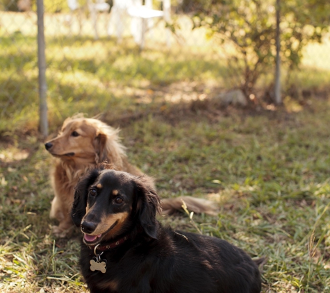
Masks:
[[[37,133],[35,38],[4,34],[0,48],[0,291],[85,292],[79,231],[68,240],[51,235],[52,158]],[[163,224],[197,225],[267,257],[263,292],[330,292],[329,68],[308,59],[293,76],[299,90],[322,97],[312,92],[297,103],[288,94],[283,108],[252,111],[198,100],[229,87],[222,60],[203,49],[138,53],[130,42],[48,37],[47,62],[50,136],[68,115],[102,112],[160,196],[219,206],[217,217],[159,217]]]

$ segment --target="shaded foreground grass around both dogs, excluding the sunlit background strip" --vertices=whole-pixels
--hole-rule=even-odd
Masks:
[[[330,102],[282,111],[168,110],[123,123],[122,137],[130,160],[157,178],[160,196],[217,202],[217,217],[193,217],[204,234],[267,256],[264,292],[327,292]],[[10,137],[0,156],[1,292],[85,290],[79,233],[65,242],[50,234],[51,158],[42,140]],[[188,215],[160,221],[195,231]]]

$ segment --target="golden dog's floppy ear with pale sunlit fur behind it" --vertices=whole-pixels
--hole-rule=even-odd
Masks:
[[[123,168],[123,158],[126,157],[125,147],[119,142],[119,129],[112,128],[97,121],[97,133],[94,147],[97,153],[95,161],[110,162],[119,169]]]

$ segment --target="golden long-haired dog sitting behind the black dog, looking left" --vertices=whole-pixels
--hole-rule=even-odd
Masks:
[[[69,117],[63,123],[57,137],[44,144],[55,163],[51,171],[51,183],[55,193],[51,203],[50,217],[59,221],[53,226],[53,233],[65,237],[73,227],[70,210],[74,201],[74,187],[79,178],[90,167],[99,162],[113,164],[118,171],[126,171],[141,176],[142,171],[131,165],[126,157],[125,147],[119,142],[119,130],[108,126],[99,119],[85,118],[83,115]],[[214,214],[214,203],[192,196],[163,199],[163,215],[180,210],[182,200],[193,212]]]

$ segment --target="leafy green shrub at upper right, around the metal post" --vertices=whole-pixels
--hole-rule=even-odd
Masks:
[[[237,76],[247,96],[256,82],[274,67],[275,12],[274,1],[212,0],[194,1],[199,7],[192,18],[194,28],[208,28],[226,48],[229,67]],[[329,30],[330,3],[327,0],[281,1],[281,59],[288,67],[297,67],[302,50],[309,42],[321,42]]]

